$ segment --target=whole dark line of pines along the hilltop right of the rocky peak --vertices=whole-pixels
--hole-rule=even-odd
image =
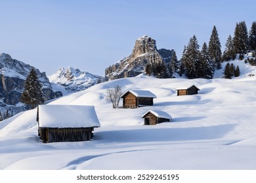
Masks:
[[[221,69],[221,63],[223,61],[230,61],[236,59],[238,55],[239,59],[244,59],[247,52],[253,52],[255,56],[256,52],[256,22],[253,22],[247,31],[245,22],[236,23],[234,29],[234,37],[228,36],[226,40],[224,52],[221,52],[221,42],[219,40],[219,34],[215,25],[211,32],[209,43],[203,42],[200,50],[200,45],[196,35],[190,38],[187,46],[184,46],[182,57],[177,59],[176,53],[173,52],[173,56],[169,63],[148,63],[145,68],[147,75],[154,75],[158,78],[173,78],[175,73],[180,76],[185,75],[186,78],[213,78],[215,70]],[[256,59],[253,61],[248,60],[249,63],[256,63]],[[228,65],[227,67],[230,67]],[[234,69],[225,69],[224,78],[231,78],[231,76],[239,76],[240,69],[236,67],[236,75]],[[228,73],[229,72],[229,73]]]

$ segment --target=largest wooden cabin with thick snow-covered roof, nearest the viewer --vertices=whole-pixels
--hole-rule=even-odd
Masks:
[[[90,141],[100,127],[93,106],[39,105],[38,135],[42,142]]]

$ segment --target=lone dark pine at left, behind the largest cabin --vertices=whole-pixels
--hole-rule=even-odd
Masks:
[[[31,105],[31,108],[43,104],[45,100],[43,99],[41,88],[35,69],[32,69],[26,78],[24,92],[20,96],[20,101],[26,105]]]

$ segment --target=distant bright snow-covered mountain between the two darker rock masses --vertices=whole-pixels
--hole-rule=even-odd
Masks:
[[[105,80],[102,76],[83,72],[74,67],[68,67],[68,69],[62,67],[48,78],[53,84],[53,89],[64,94],[85,90]]]

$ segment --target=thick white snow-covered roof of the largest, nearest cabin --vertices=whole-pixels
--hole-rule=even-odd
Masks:
[[[94,106],[39,105],[39,127],[100,127]]]

